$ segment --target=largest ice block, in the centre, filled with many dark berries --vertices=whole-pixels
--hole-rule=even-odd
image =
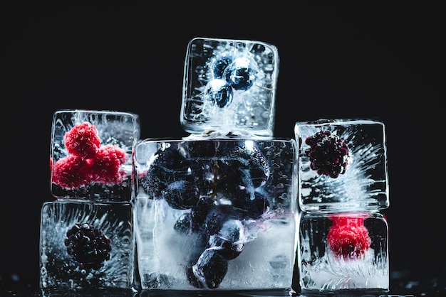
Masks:
[[[150,140],[135,146],[135,239],[148,290],[290,289],[296,142]]]

